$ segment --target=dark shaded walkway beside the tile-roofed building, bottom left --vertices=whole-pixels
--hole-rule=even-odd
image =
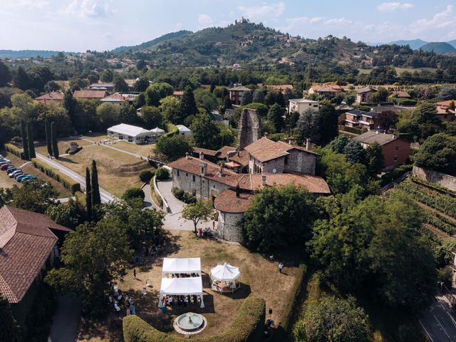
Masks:
[[[58,308],[52,318],[51,341],[74,342],[81,320],[81,299],[77,296],[58,297]]]

